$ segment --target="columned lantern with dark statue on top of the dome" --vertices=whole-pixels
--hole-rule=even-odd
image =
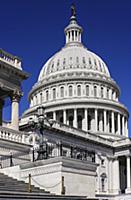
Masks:
[[[83,29],[77,24],[75,6],[71,6],[71,18],[69,25],[65,28],[66,44],[81,43]]]

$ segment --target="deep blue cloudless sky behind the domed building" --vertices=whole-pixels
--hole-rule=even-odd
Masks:
[[[130,0],[0,0],[0,47],[21,57],[23,69],[31,74],[22,86],[20,114],[28,108],[28,92],[43,64],[64,45],[72,2],[84,28],[83,43],[107,63],[131,113]],[[6,117],[7,110],[10,106]]]

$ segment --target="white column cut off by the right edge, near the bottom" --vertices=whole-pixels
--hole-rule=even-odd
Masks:
[[[131,192],[131,164],[130,164],[130,156],[128,155],[126,158],[127,162],[127,189],[126,193]]]

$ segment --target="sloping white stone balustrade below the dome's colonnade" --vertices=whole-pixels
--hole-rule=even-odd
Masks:
[[[79,137],[84,137],[86,139],[93,140],[93,141],[99,142],[99,143],[103,143],[103,144],[106,144],[106,145],[109,145],[109,146],[113,144],[112,140],[102,138],[101,136],[99,136],[97,134],[91,133],[91,131],[86,132],[86,131],[79,130],[79,129],[76,129],[74,127],[70,127],[68,125],[59,123],[59,122],[54,122],[53,128],[57,128],[61,131],[64,130],[65,132],[72,133],[73,135],[76,135],[76,136],[79,136]]]

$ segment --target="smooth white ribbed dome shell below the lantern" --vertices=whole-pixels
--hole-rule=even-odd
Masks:
[[[68,71],[94,72],[110,77],[106,64],[99,56],[87,50],[82,44],[72,44],[66,45],[46,62],[40,71],[38,81]]]

